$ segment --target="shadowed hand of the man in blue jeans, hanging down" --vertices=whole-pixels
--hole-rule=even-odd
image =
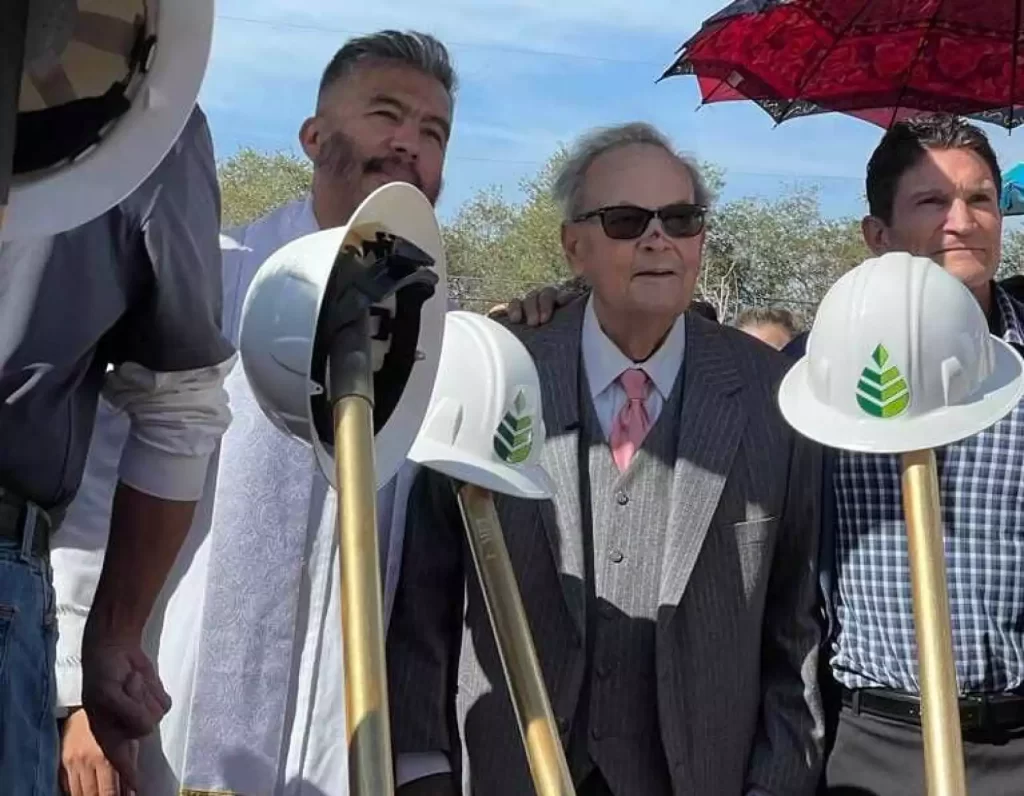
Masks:
[[[82,703],[106,759],[130,790],[139,791],[136,740],[171,709],[171,698],[138,642],[90,637],[82,644]]]

